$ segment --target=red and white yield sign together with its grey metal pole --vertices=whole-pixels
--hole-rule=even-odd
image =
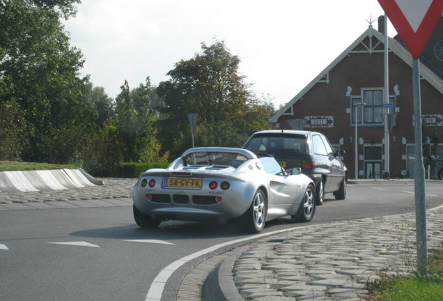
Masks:
[[[412,92],[414,118],[421,119],[419,57],[443,12],[443,0],[378,0],[412,57]],[[421,123],[414,124],[415,137],[415,224],[417,231],[417,271],[428,273],[428,242],[426,234],[426,189],[423,166]]]

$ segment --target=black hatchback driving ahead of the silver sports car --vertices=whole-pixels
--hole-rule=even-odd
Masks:
[[[348,170],[339,158],[345,151],[334,151],[319,132],[265,130],[252,134],[243,148],[268,153],[285,169],[300,167],[316,183],[317,205],[323,203],[328,192],[336,199],[346,197]]]

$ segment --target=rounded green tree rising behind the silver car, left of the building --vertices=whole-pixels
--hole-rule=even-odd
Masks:
[[[268,119],[273,107],[258,100],[251,93],[251,85],[240,75],[240,58],[232,55],[224,41],[215,41],[208,46],[201,44],[202,53],[192,59],[181,60],[167,75],[171,77],[161,82],[157,88],[164,107],[160,128],[162,144],[174,155],[185,150],[186,141],[190,141],[187,114],[196,113],[197,124],[205,135],[215,137],[218,130],[231,125],[231,130],[261,130],[270,128]],[[272,109],[271,109],[272,107]],[[233,134],[233,132],[231,132]],[[231,143],[228,136],[223,136],[217,144],[226,146]],[[210,143],[210,137],[203,141]]]

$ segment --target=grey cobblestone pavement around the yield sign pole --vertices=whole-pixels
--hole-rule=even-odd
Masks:
[[[428,249],[443,243],[442,224],[443,207],[429,210]],[[414,225],[407,214],[272,236],[235,255],[233,281],[244,300],[362,300],[368,282],[416,270]]]

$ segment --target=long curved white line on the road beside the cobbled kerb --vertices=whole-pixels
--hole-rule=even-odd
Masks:
[[[194,254],[190,254],[190,255],[185,256],[181,259],[178,259],[178,261],[174,261],[173,263],[168,265],[166,268],[164,268],[157,275],[157,277],[155,277],[155,279],[153,280],[153,283],[150,284],[148,295],[146,295],[145,301],[160,301],[160,300],[162,300],[164,286],[166,285],[166,282],[168,281],[169,277],[171,277],[173,272],[175,272],[178,268],[180,268],[182,265],[184,265],[188,261],[191,261],[194,258],[203,256],[203,255],[208,254],[210,252],[214,252],[215,250],[220,249],[221,247],[225,247],[227,245],[233,245],[238,242],[244,242],[247,240],[254,240],[256,238],[262,238],[264,236],[271,236],[271,235],[278,234],[278,233],[294,231],[294,230],[300,229],[300,228],[303,228],[303,227],[283,229],[283,230],[272,231],[272,232],[268,232],[268,233],[257,234],[255,236],[248,236],[247,238],[240,238],[238,240],[231,240],[228,242],[221,243],[219,245],[208,247],[207,249],[203,249],[199,252],[195,252]]]

